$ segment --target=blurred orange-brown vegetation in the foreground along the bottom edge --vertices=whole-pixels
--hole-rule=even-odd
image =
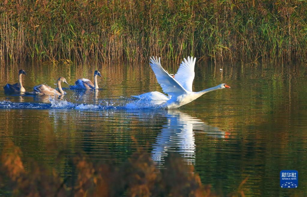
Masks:
[[[26,168],[14,147],[1,155],[0,191],[14,196],[216,196],[211,186],[201,184],[193,165],[175,155],[169,159],[157,169],[142,149],[117,167],[79,155],[71,161],[70,176],[61,178],[56,169],[37,162],[26,162]],[[244,193],[238,189],[232,195]]]

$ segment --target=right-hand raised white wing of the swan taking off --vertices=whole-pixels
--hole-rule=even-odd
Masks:
[[[175,74],[175,79],[184,87],[187,91],[192,92],[192,84],[195,76],[194,66],[196,58],[188,57],[183,59],[181,62],[177,73]]]

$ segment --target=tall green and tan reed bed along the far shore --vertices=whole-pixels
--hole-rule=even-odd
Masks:
[[[306,1],[3,0],[0,62],[306,61]]]

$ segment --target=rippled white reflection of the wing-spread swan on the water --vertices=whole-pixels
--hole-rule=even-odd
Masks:
[[[141,120],[154,119],[154,116],[166,118],[161,132],[156,137],[151,152],[155,162],[164,163],[164,158],[170,152],[178,152],[188,163],[195,163],[195,133],[203,133],[206,136],[225,138],[225,132],[212,127],[203,121],[192,117],[179,110],[139,112]]]

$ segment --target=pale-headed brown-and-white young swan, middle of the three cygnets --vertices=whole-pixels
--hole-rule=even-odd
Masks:
[[[26,94],[29,94],[29,95],[64,95],[64,91],[62,90],[62,87],[61,87],[61,82],[68,84],[66,79],[61,76],[57,81],[57,87],[59,91],[47,85],[41,84],[41,85],[33,87],[34,92],[26,92]]]

